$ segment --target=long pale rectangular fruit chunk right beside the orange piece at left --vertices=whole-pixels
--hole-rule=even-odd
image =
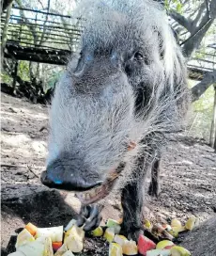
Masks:
[[[41,236],[50,237],[52,242],[62,242],[63,239],[63,226],[52,228],[38,228],[36,238]]]

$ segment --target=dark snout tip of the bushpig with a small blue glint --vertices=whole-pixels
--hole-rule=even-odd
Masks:
[[[79,175],[71,174],[64,168],[48,167],[40,177],[41,183],[50,188],[64,189],[69,191],[85,191],[102,184],[102,181],[85,181]]]

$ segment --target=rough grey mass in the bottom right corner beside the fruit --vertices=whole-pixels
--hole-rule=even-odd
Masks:
[[[180,246],[191,251],[193,256],[216,255],[216,217],[203,222],[192,232],[188,232]]]

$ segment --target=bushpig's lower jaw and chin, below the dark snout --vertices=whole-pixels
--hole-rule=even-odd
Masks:
[[[82,204],[90,204],[98,200],[104,199],[106,196],[109,195],[110,191],[116,184],[116,179],[118,178],[118,176],[118,171],[112,172],[112,174],[104,181],[103,184],[85,192],[77,193],[77,198],[81,200]]]

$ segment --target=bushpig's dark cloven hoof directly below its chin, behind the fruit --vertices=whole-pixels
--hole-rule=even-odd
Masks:
[[[84,231],[90,232],[100,226],[100,221],[100,206],[92,204],[81,207],[80,215],[77,219],[78,227],[84,226]]]

